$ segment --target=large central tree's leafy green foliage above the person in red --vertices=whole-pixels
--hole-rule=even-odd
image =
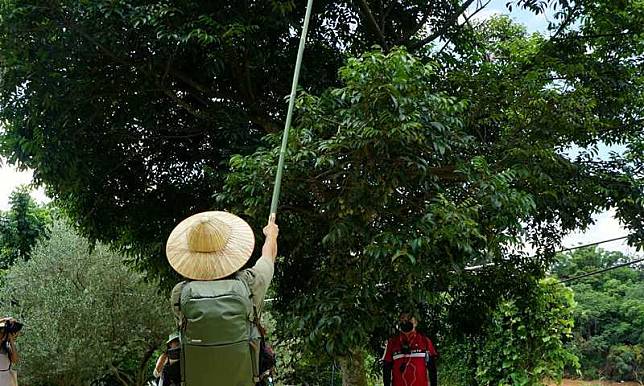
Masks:
[[[392,316],[422,302],[431,331],[481,336],[499,299],[532,293],[549,264],[547,254],[512,252],[522,222],[544,205],[523,187],[534,170],[481,154],[459,118],[467,104],[436,89],[436,67],[400,50],[368,53],[341,70],[344,87],[298,102],[276,309],[297,316],[278,331],[301,338],[302,350],[342,357],[378,347]],[[233,205],[243,192],[237,210],[259,221],[279,140],[234,157],[222,196]],[[482,263],[495,265],[464,270]]]

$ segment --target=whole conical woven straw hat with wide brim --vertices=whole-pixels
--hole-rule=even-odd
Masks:
[[[232,213],[197,213],[181,221],[168,237],[168,262],[192,280],[226,277],[246,264],[255,246],[250,225]]]

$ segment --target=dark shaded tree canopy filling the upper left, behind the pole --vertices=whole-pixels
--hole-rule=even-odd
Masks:
[[[347,53],[376,43],[421,46],[428,23],[433,39],[454,32],[464,5],[316,1],[301,83],[333,85]],[[167,275],[172,226],[212,206],[230,155],[281,129],[303,13],[290,0],[3,1],[2,153],[86,235]]]

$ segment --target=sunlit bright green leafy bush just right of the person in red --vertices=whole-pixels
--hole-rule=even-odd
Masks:
[[[578,367],[566,347],[572,338],[572,291],[546,279],[521,299],[504,299],[486,328],[476,353],[476,380],[481,385],[542,385],[561,382],[566,365]]]

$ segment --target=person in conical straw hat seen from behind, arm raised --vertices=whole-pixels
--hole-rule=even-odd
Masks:
[[[243,270],[255,238],[240,217],[198,213],[170,233],[168,262],[186,278],[170,296],[180,331],[182,384],[250,386],[259,381],[259,315],[277,256],[274,216],[263,231],[261,257]]]

